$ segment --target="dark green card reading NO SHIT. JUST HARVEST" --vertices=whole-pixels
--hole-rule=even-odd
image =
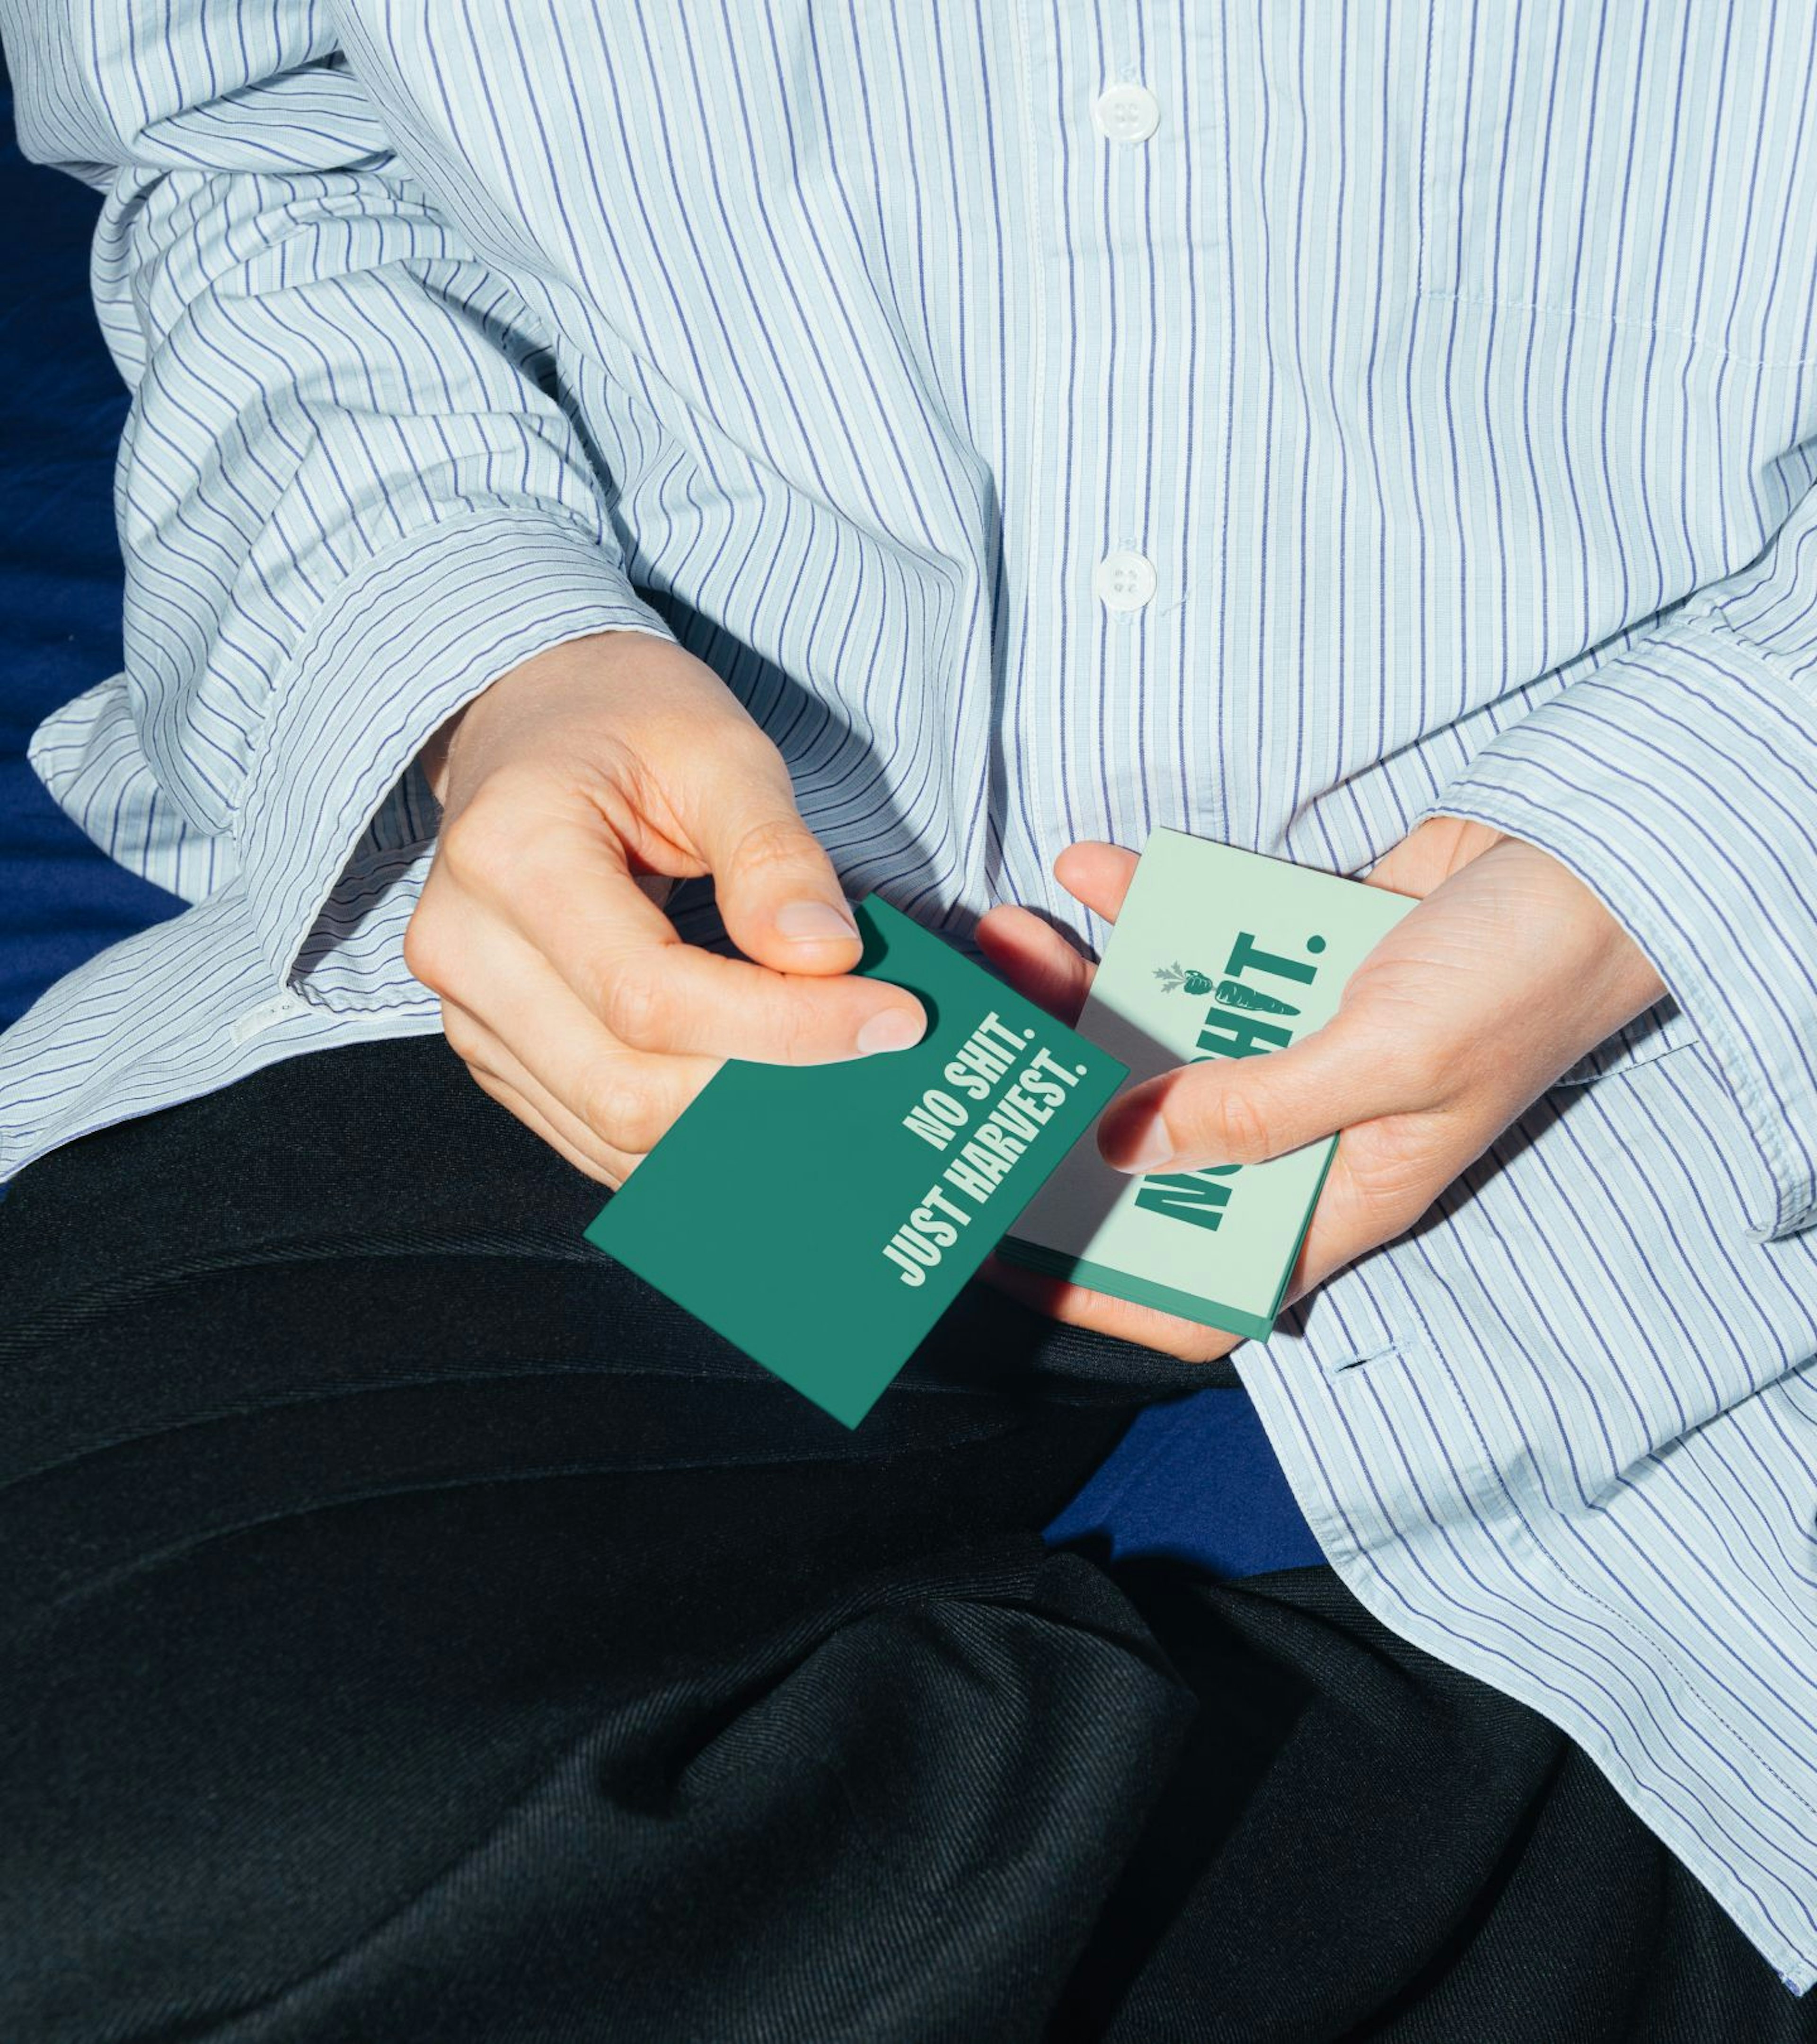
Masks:
[[[910,1051],[728,1061],[587,1239],[856,1427],[1126,1067],[875,895]]]

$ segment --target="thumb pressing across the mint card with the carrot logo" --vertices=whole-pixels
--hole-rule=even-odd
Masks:
[[[1118,1171],[1200,1171],[1263,1163],[1384,1114],[1435,1108],[1447,1094],[1435,1047],[1386,1042],[1347,1014],[1259,1057],[1206,1057],[1106,1108],[1098,1149]]]

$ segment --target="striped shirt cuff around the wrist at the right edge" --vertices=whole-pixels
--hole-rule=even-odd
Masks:
[[[1633,936],[1735,1102],[1750,1241],[1817,1218],[1817,705],[1698,621],[1500,732],[1420,811],[1549,852]]]

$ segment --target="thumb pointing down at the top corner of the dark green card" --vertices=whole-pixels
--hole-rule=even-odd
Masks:
[[[719,779],[699,824],[719,918],[734,944],[781,973],[848,973],[863,955],[858,924],[832,861],[801,822],[789,769],[771,750],[758,771],[740,760]]]

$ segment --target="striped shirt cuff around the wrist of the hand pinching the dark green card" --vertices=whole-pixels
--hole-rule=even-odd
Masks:
[[[274,991],[339,1008],[421,991],[392,940],[399,901],[382,916],[372,903],[386,883],[421,883],[425,846],[354,865],[366,828],[446,717],[519,662],[595,632],[672,638],[609,548],[544,513],[427,525],[339,585],[276,681],[235,818]],[[337,948],[374,940],[382,961],[323,971]]]

